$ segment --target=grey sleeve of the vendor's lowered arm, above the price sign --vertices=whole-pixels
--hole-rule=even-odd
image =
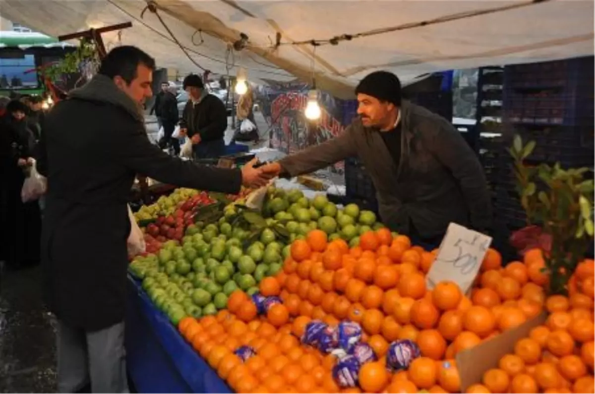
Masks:
[[[455,177],[469,209],[469,220],[475,231],[491,228],[491,200],[486,175],[480,161],[461,133],[444,124],[429,144],[433,155]]]

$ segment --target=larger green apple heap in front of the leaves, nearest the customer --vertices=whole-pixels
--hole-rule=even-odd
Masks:
[[[185,316],[215,314],[226,308],[231,292],[254,294],[262,278],[281,269],[283,245],[272,231],[262,231],[261,241],[246,250],[245,237],[227,222],[202,230],[189,226],[182,244],[167,241],[158,253],[137,256],[129,269],[143,279],[143,288],[172,323]]]

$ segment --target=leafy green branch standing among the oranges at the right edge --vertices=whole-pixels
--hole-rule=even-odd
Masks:
[[[550,273],[550,294],[565,294],[566,284],[595,234],[595,184],[592,179],[584,179],[588,168],[565,170],[560,163],[526,165],[525,159],[535,146],[535,141],[523,145],[516,135],[509,153],[514,159],[517,190],[528,224],[540,223],[552,237],[552,250],[544,254]]]

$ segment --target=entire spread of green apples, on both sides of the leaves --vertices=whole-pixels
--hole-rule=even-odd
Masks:
[[[383,226],[373,212],[360,211],[355,204],[339,210],[323,194],[308,200],[302,191],[274,187],[261,213],[239,220],[241,211],[241,204],[230,204],[214,222],[187,226],[181,242],[164,242],[158,253],[130,263],[130,272],[142,279],[151,300],[172,323],[217,313],[236,289],[258,292],[263,278],[281,270],[290,242],[313,229],[356,245],[360,234]]]

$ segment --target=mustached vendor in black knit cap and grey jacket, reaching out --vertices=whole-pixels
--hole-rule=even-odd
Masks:
[[[399,78],[367,75],[356,87],[359,118],[336,138],[267,171],[297,176],[358,156],[377,191],[380,216],[393,231],[436,247],[450,222],[487,231],[486,176],[459,131],[441,116],[401,99]]]

